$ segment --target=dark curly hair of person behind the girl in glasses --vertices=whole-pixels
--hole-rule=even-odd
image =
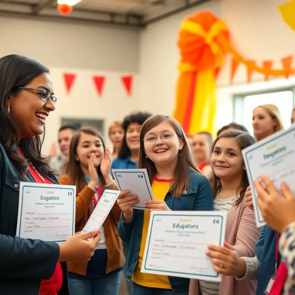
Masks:
[[[128,126],[131,123],[137,123],[139,125],[143,125],[145,120],[151,116],[152,116],[152,114],[150,114],[148,112],[137,112],[137,113],[132,113],[124,118],[123,123],[122,123],[122,127],[124,129],[125,135],[123,138],[122,147],[119,151],[119,155],[118,155],[119,158],[125,159],[128,156],[130,156],[130,154],[131,154],[130,149],[128,148],[127,143],[126,143],[126,131],[128,129]]]

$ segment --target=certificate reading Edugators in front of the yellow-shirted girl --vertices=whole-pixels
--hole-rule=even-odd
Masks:
[[[227,212],[152,211],[142,273],[221,281],[207,246],[223,245]]]

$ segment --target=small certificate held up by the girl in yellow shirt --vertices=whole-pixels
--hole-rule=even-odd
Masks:
[[[148,210],[145,201],[154,199],[150,180],[146,169],[112,169],[117,186],[120,191],[130,191],[126,196],[137,195],[138,202],[133,209]]]

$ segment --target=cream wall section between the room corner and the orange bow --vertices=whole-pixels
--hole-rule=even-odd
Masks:
[[[220,1],[213,0],[149,25],[140,34],[140,106],[154,114],[173,114],[179,61],[177,32],[187,14],[211,10],[220,14]]]

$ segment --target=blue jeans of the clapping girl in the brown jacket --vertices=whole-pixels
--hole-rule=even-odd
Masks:
[[[120,272],[99,279],[69,278],[71,295],[118,295]]]

